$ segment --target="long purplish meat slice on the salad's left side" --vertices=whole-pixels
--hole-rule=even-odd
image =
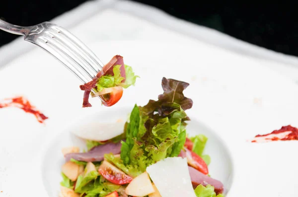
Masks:
[[[119,154],[121,151],[121,143],[107,143],[90,149],[88,152],[81,153],[69,153],[65,155],[66,162],[71,160],[71,158],[77,161],[102,161],[104,154],[113,153]]]

